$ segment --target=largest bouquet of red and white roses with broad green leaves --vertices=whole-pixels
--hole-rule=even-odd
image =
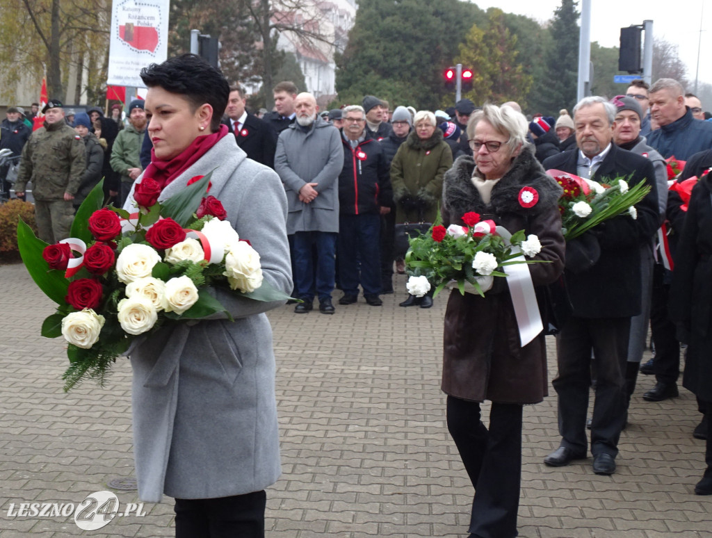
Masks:
[[[214,196],[209,176],[197,176],[157,203],[160,187],[143,179],[136,213],[108,207],[99,184],[78,209],[70,238],[47,245],[22,221],[18,243],[37,285],[58,304],[42,335],[63,336],[68,391],[88,377],[105,383],[110,366],[133,339],[169,323],[224,312],[221,287],[254,300],[288,295],[263,282],[260,257],[239,238]]]

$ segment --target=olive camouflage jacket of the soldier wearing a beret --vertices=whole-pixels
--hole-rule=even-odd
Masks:
[[[86,168],[82,137],[65,122],[45,123],[32,133],[22,149],[16,191],[32,181],[36,200],[61,200],[64,193],[77,194]]]

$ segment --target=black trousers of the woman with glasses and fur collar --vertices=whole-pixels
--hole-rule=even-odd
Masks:
[[[489,429],[480,403],[447,397],[447,426],[475,488],[468,532],[479,538],[517,535],[522,474],[522,406],[492,403]]]

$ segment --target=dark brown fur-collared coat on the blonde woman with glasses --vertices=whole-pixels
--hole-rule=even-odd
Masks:
[[[564,268],[565,243],[557,207],[560,186],[544,173],[531,148],[525,147],[493,187],[490,204],[485,204],[471,181],[474,168],[472,157],[459,157],[445,174],[443,225],[464,224],[464,213],[475,211],[511,233],[525,230],[527,235],[535,234],[542,250],[534,259],[549,263],[528,266],[532,282],[535,289],[552,283]],[[533,207],[519,204],[518,195],[524,186],[539,194]],[[506,283],[498,282],[484,298],[454,290],[445,313],[442,390],[473,401],[542,401],[548,394],[544,338],[542,332],[521,347]]]

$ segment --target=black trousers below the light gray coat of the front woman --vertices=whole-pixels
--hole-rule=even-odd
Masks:
[[[264,538],[267,494],[176,499],[176,538]]]

